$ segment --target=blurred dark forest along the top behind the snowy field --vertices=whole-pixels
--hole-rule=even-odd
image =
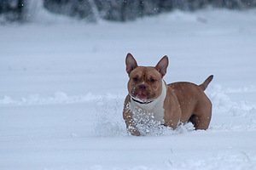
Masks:
[[[1,22],[29,22],[41,4],[52,14],[96,20],[127,21],[180,9],[230,8],[245,10],[256,7],[256,0],[0,0]]]

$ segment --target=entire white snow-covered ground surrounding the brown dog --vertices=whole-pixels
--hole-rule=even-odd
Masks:
[[[97,24],[38,11],[30,24],[0,26],[1,169],[256,169],[254,9]],[[213,74],[209,129],[128,135],[129,52],[139,65],[168,55],[166,82]]]

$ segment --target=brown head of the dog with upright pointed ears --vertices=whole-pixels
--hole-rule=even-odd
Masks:
[[[166,75],[168,57],[164,56],[153,66],[138,66],[131,54],[125,59],[126,71],[130,77],[128,91],[133,99],[149,102],[158,98],[162,92],[162,78]]]

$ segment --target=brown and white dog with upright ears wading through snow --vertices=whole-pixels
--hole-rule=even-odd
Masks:
[[[155,67],[138,66],[131,54],[127,54],[125,63],[130,77],[123,111],[128,132],[141,135],[137,128],[138,115],[150,115],[149,119],[172,129],[185,122],[192,122],[195,129],[208,128],[212,103],[204,90],[213,76],[201,85],[191,82],[166,84],[163,77],[168,66],[167,56],[160,59]]]

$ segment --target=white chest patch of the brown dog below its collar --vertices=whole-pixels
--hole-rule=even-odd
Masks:
[[[148,104],[140,104],[131,99],[129,109],[132,111],[134,121],[138,123],[160,122],[164,124],[164,102],[166,99],[166,83],[162,80],[162,93],[160,97]]]

